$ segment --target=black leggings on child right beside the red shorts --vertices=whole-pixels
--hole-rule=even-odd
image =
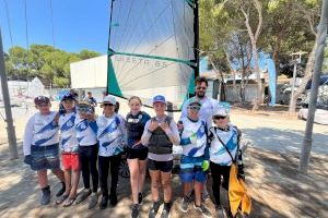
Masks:
[[[82,178],[85,189],[90,189],[90,174],[92,177],[92,192],[98,189],[97,157],[98,145],[79,146]]]

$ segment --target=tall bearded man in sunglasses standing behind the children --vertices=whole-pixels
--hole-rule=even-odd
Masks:
[[[207,89],[208,89],[208,80],[206,77],[197,77],[195,80],[195,93],[196,96],[188,99],[184,107],[183,107],[183,111],[181,111],[181,117],[180,117],[180,121],[178,122],[178,130],[179,132],[183,132],[184,130],[184,123],[181,122],[183,118],[187,118],[188,116],[188,105],[190,100],[195,100],[197,99],[198,101],[201,102],[201,108],[199,111],[199,119],[203,120],[207,122],[207,126],[211,128],[212,126],[212,117],[214,114],[214,112],[219,109],[219,101],[206,96]],[[191,192],[191,186],[190,186],[190,195],[192,194]],[[207,191],[207,186],[203,186],[203,192],[202,192],[202,199],[207,201],[210,198],[210,195]]]

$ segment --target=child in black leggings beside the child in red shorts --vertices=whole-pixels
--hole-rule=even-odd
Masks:
[[[78,106],[79,116],[75,120],[77,138],[79,142],[79,157],[82,170],[84,190],[75,201],[80,204],[91,194],[89,209],[93,208],[98,201],[98,170],[97,170],[97,126],[94,120],[93,109],[87,101],[80,101]],[[90,174],[92,177],[92,190],[90,189]]]

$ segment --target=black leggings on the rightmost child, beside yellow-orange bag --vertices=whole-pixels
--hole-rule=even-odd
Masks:
[[[214,162],[210,162],[212,179],[213,179],[213,195],[215,198],[216,205],[220,205],[220,186],[222,184],[222,187],[224,187],[226,191],[229,190],[229,178],[230,178],[230,168],[231,166],[221,166],[216,165]],[[221,175],[223,177],[223,182],[221,179]]]

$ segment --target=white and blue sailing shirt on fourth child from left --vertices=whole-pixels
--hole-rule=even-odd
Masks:
[[[106,118],[102,114],[97,118],[97,140],[99,141],[99,156],[110,157],[122,152],[122,144],[126,143],[127,131],[125,119],[119,114]]]

